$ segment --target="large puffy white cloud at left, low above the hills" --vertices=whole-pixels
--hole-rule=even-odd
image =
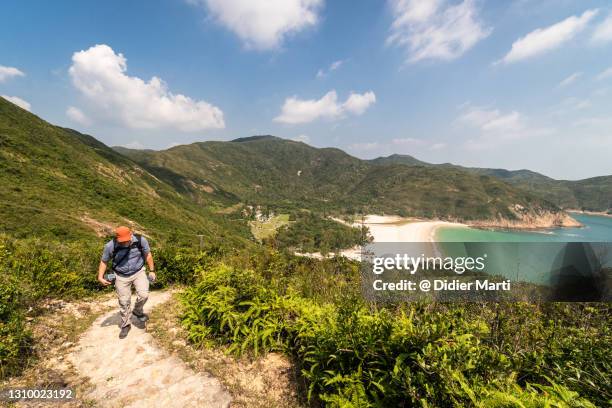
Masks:
[[[158,77],[126,75],[127,60],[108,45],[75,52],[69,73],[90,106],[135,129],[198,131],[224,128],[223,112],[205,101],[174,94]]]

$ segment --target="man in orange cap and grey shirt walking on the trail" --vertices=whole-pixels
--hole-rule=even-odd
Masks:
[[[113,274],[104,275],[108,261],[112,261]],[[145,263],[149,266],[149,277],[145,269]],[[121,310],[121,331],[119,338],[127,336],[131,328],[131,315],[136,316],[141,322],[146,322],[149,317],[144,313],[143,306],[149,296],[149,280],[155,281],[155,265],[149,242],[139,234],[132,234],[128,227],[118,227],[115,230],[115,238],[104,245],[102,259],[98,267],[98,281],[108,286],[115,281],[115,290]],[[136,288],[136,304],[130,310],[132,297],[132,285]]]

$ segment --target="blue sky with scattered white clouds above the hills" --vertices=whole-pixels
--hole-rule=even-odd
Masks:
[[[0,95],[108,145],[273,134],[362,158],[612,174],[612,5],[4,1]]]

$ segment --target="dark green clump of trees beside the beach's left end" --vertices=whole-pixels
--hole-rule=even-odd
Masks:
[[[294,215],[290,223],[282,227],[269,241],[281,248],[327,255],[330,252],[365,244],[367,233],[366,228],[362,230],[350,227],[302,211]]]

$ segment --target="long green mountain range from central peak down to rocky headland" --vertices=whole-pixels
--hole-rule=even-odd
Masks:
[[[274,136],[193,143],[158,152],[119,151],[191,196],[220,195],[329,213],[481,221],[531,222],[543,214],[558,215],[558,222],[564,218],[554,204],[495,177],[458,168],[376,163],[339,149]]]

